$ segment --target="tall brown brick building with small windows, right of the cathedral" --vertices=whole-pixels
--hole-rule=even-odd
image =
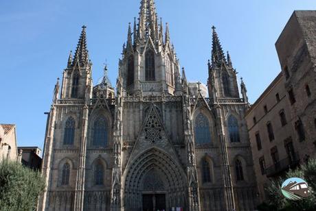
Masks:
[[[316,157],[316,11],[295,11],[275,46],[282,72],[247,110],[260,201],[271,177]]]

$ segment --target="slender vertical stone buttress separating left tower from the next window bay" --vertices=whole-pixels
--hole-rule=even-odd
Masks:
[[[84,179],[87,153],[87,129],[88,129],[89,109],[84,105],[81,125],[81,143],[80,143],[80,158],[76,177],[76,192],[74,200],[74,210],[83,210],[84,206]]]

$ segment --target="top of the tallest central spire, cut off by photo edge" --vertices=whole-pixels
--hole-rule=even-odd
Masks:
[[[142,0],[138,24],[139,39],[150,36],[153,41],[158,38],[157,13],[154,0]]]

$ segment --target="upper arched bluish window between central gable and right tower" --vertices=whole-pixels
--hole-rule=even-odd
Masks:
[[[196,116],[194,137],[197,144],[205,145],[211,143],[210,124],[207,117],[202,113]]]

